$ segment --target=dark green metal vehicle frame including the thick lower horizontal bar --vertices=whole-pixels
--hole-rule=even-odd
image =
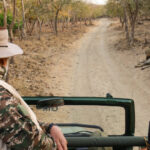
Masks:
[[[39,105],[45,101],[63,100],[64,105],[116,106],[125,110],[125,133],[109,137],[67,137],[68,147],[113,147],[113,150],[132,150],[133,146],[145,146],[144,137],[134,137],[135,108],[132,99],[106,97],[23,97],[29,105]],[[47,104],[46,104],[47,105]]]

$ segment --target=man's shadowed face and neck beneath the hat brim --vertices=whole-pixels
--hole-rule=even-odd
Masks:
[[[8,58],[0,58],[0,79],[5,79],[8,71]]]

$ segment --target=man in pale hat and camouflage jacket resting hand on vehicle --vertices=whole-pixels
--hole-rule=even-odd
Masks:
[[[6,76],[9,58],[23,54],[8,42],[7,29],[0,28],[0,77]],[[56,143],[56,144],[55,144]],[[0,80],[0,150],[67,150],[59,127],[42,124],[16,90]]]

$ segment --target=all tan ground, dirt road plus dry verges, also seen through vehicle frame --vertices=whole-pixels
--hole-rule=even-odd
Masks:
[[[32,37],[16,41],[25,53],[14,58],[9,83],[26,96],[105,97],[111,93],[113,97],[134,99],[135,134],[147,135],[150,69],[135,65],[145,59],[144,50],[149,47],[145,43],[145,35],[149,39],[148,24],[137,26],[136,46],[132,48],[127,47],[116,19],[100,19],[93,27],[69,32],[69,37],[66,32],[59,37],[45,33],[41,41]],[[124,110],[120,108],[65,107],[47,115],[33,109],[41,121],[90,122],[101,125],[108,134],[124,131]]]

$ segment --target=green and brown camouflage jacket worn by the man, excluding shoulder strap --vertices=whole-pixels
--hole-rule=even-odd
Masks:
[[[54,143],[47,124],[42,132],[25,114],[20,101],[0,86],[0,139],[11,150],[52,150]]]

